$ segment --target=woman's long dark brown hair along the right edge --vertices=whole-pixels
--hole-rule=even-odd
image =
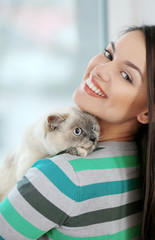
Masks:
[[[128,28],[125,33],[141,31],[146,44],[147,97],[149,123],[137,134],[137,143],[142,159],[143,219],[142,240],[155,239],[155,26],[143,25]]]

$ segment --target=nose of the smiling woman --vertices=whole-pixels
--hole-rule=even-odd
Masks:
[[[94,67],[94,69],[92,70],[92,74],[95,77],[101,78],[103,81],[107,82],[110,80],[111,70],[110,70],[110,67],[107,66],[107,63],[100,64]]]

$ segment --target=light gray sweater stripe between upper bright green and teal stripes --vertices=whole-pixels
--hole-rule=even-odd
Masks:
[[[80,179],[80,185],[84,186],[84,185],[100,183],[100,182],[121,181],[121,180],[136,178],[139,176],[139,170],[140,170],[139,167],[98,169],[98,170],[92,169],[92,170],[75,172],[72,165],[68,163],[68,161],[70,161],[73,156],[69,155],[69,159],[66,160],[66,157],[68,157],[68,155],[69,154],[60,155],[58,159],[56,159],[57,157],[54,158],[56,161],[53,161],[53,162],[76,185],[79,185],[78,179]],[[76,158],[77,157],[75,157],[75,159]]]

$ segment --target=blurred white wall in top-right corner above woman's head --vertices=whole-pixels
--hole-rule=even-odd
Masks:
[[[107,0],[108,39],[130,25],[155,24],[154,0]]]

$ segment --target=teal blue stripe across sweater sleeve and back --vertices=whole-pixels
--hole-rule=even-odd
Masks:
[[[95,197],[121,194],[140,188],[139,178],[101,182],[80,187],[75,185],[66,174],[49,159],[39,160],[33,166],[38,168],[62,193],[74,201],[82,202]]]

